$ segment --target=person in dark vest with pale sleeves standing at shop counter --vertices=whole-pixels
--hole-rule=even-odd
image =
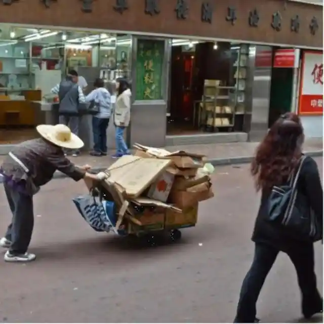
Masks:
[[[56,85],[51,93],[59,96],[59,123],[70,128],[73,134],[79,131],[79,103],[85,103],[86,98],[81,87],[77,84],[78,74],[70,70],[60,84]],[[68,150],[64,150],[67,155]],[[77,156],[78,150],[72,150],[72,156]]]

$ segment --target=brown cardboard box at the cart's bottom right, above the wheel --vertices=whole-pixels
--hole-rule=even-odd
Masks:
[[[190,227],[197,223],[198,204],[187,207],[182,213],[176,213],[173,210],[166,211],[166,228]]]

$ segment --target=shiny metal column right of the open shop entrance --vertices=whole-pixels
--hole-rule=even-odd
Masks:
[[[268,131],[272,48],[250,46],[244,131],[252,142],[260,141]]]

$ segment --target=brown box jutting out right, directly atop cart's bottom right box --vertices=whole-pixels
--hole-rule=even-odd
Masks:
[[[198,201],[204,201],[214,197],[211,183],[204,182],[186,190],[171,190],[169,201],[175,206],[184,209],[193,206]]]

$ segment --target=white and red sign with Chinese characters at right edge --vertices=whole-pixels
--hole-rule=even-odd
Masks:
[[[303,52],[299,91],[299,114],[323,114],[322,52]]]

